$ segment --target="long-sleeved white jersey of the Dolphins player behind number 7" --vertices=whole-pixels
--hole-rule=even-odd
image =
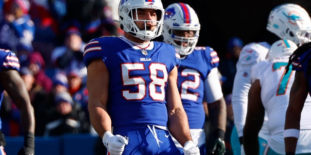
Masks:
[[[237,73],[234,78],[232,90],[232,109],[234,124],[237,128],[239,137],[243,136],[243,128],[245,125],[247,112],[247,96],[250,84],[251,67],[263,60],[268,53],[270,45],[267,42],[250,43],[242,48],[239,61],[237,63]],[[265,118],[267,120],[267,118]],[[267,131],[265,122],[259,132],[259,137],[267,140]]]

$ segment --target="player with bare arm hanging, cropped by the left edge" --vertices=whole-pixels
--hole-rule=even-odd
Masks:
[[[24,144],[17,155],[35,154],[35,114],[23,79],[19,75],[19,62],[11,50],[0,49],[0,104],[6,91],[20,110],[24,129]],[[0,123],[1,128],[1,123]],[[0,132],[0,155],[5,155],[5,139]]]

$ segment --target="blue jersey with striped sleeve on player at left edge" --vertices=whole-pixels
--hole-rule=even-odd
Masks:
[[[14,69],[19,72],[19,62],[16,54],[10,50],[0,49],[0,72],[4,69]],[[4,88],[0,84],[0,106],[3,99]],[[0,122],[0,129],[2,128]]]

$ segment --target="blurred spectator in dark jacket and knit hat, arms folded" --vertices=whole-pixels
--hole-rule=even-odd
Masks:
[[[54,97],[52,116],[46,124],[44,136],[88,133],[84,111],[75,107],[72,97],[67,92],[59,92]]]

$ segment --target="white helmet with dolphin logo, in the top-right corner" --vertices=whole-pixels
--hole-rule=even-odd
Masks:
[[[274,8],[268,17],[267,30],[298,46],[311,41],[310,16],[297,4],[286,3]]]

